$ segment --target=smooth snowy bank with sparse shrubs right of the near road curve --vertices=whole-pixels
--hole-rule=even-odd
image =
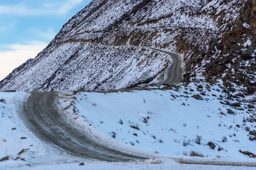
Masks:
[[[75,97],[63,92],[59,103],[70,107],[66,114],[74,122],[113,147],[186,159],[255,161],[239,151],[256,153],[255,136],[249,135],[255,130],[255,100],[247,97],[249,105],[222,88],[191,83],[178,90],[79,92]]]

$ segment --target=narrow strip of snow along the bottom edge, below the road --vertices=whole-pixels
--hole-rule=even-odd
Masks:
[[[254,170],[255,167],[233,167],[233,166],[214,166],[180,164],[170,159],[150,159],[146,161],[106,163],[106,162],[84,162],[80,163],[60,163],[60,164],[37,164],[32,166],[22,166],[12,168],[12,170]]]

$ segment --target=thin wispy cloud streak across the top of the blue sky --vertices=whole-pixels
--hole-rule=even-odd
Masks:
[[[43,8],[29,8],[28,6],[13,5],[0,6],[0,14],[18,16],[43,16],[43,15],[64,15],[71,9],[78,6],[84,0],[66,0],[59,3],[43,3]]]

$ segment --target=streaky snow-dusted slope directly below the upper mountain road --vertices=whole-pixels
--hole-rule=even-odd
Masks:
[[[61,57],[60,57],[61,56]],[[165,79],[171,57],[149,48],[101,47],[86,42],[60,45],[26,70],[4,80],[1,90],[61,91],[121,89]]]

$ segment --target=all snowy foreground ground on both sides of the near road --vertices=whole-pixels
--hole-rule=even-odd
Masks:
[[[249,121],[243,122],[243,119],[253,118],[255,115],[255,110],[249,109],[248,103],[244,100],[252,99],[253,96],[242,98],[233,94],[238,98],[227,99],[229,97],[223,92],[221,83],[201,85],[202,87],[199,83],[190,83],[186,87],[180,86],[178,90],[173,88],[112,93],[67,91],[59,93],[60,108],[66,108],[63,113],[70,118],[74,126],[90,131],[104,143],[107,142],[109,147],[127,153],[144,153],[152,158],[126,163],[88,161],[70,156],[63,150],[53,149],[51,145],[37,139],[33,131],[30,132],[20,121],[20,106],[26,102],[29,94],[1,92],[0,159],[9,156],[9,160],[0,161],[0,169],[69,170],[74,167],[75,169],[86,167],[90,170],[251,170],[255,168],[195,165],[255,166],[256,164],[255,158],[239,152],[242,150],[256,153],[255,141],[249,140],[249,132],[245,130],[245,127],[250,127],[250,130],[255,130],[256,127]],[[203,100],[193,98],[195,94],[201,94]],[[241,102],[241,106],[236,109],[220,103],[234,103],[237,102],[236,100]],[[228,114],[227,109],[234,111],[234,114]],[[148,123],[143,122],[143,117],[147,118]],[[123,124],[119,123],[120,119]],[[132,128],[132,125],[138,126],[140,130]],[[195,142],[197,135],[201,136],[201,144]],[[224,136],[227,137],[226,142],[223,142]],[[22,137],[26,139],[21,139]],[[207,145],[208,142],[216,145],[214,150]],[[222,150],[218,151],[218,147]],[[25,151],[20,153],[23,149]],[[204,157],[191,157],[191,151],[199,152]],[[85,166],[78,166],[81,162],[84,162]]]

